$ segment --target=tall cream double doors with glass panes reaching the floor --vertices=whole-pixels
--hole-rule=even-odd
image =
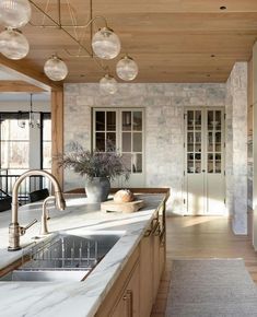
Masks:
[[[185,110],[185,209],[189,214],[224,213],[224,110]]]

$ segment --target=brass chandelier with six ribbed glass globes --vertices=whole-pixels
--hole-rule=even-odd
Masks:
[[[70,51],[67,54],[71,57],[91,57],[95,59],[98,67],[102,68],[104,77],[101,79],[100,87],[103,92],[114,94],[117,91],[117,82],[108,73],[108,68],[100,62],[100,60],[110,60],[116,58],[121,49],[120,40],[117,34],[107,25],[104,16],[94,16],[92,11],[92,0],[90,1],[90,20],[84,25],[78,25],[74,19],[74,12],[70,8],[71,24],[62,24],[61,0],[57,1],[57,20],[52,19],[47,12],[50,0],[47,0],[46,7],[42,9],[33,0],[1,0],[0,1],[0,24],[5,30],[0,33],[0,52],[7,58],[17,60],[24,58],[30,50],[30,45],[26,37],[20,31],[27,23],[35,27],[55,27],[61,30],[68,35],[77,45],[78,54],[73,55]],[[33,5],[39,13],[43,14],[40,24],[32,22],[32,8]],[[45,20],[49,20],[50,24],[46,24]],[[101,27],[95,34],[92,33],[92,24],[96,20],[102,20],[104,26]],[[82,28],[84,32],[91,26],[91,49],[89,49],[79,36],[77,36],[77,28]],[[70,32],[70,30],[73,31]],[[82,54],[83,52],[83,54]],[[100,60],[98,60],[100,59]],[[52,81],[61,81],[68,74],[68,67],[66,62],[58,57],[55,52],[44,66],[45,74]],[[116,73],[119,79],[124,81],[131,81],[138,74],[138,66],[136,61],[128,55],[125,55],[116,66]],[[115,87],[116,86],[116,87]],[[112,87],[112,89],[110,89]]]

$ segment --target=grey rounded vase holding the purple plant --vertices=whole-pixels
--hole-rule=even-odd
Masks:
[[[85,184],[85,193],[87,202],[98,203],[107,200],[110,184],[107,177],[94,177]]]

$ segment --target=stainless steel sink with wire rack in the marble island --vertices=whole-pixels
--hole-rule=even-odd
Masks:
[[[22,266],[0,281],[82,281],[121,236],[121,232],[57,234],[24,251]]]

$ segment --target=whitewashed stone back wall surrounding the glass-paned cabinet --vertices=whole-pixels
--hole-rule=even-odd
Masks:
[[[184,108],[225,106],[225,84],[119,84],[115,95],[101,95],[98,84],[65,85],[65,144],[91,148],[92,107],[145,108],[145,187],[172,189],[168,210],[183,213]],[[65,189],[83,180],[66,172]]]

